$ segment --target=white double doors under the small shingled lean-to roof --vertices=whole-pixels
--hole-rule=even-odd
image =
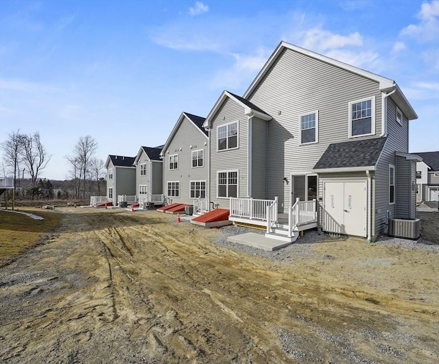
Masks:
[[[366,236],[366,181],[325,181],[323,230]]]

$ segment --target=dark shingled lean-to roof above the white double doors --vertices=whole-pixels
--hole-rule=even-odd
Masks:
[[[373,170],[385,141],[386,138],[373,138],[330,144],[313,169],[320,173],[327,169]]]

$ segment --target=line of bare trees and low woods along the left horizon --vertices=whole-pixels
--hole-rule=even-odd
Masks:
[[[19,130],[8,134],[0,143],[3,151],[3,174],[13,175],[19,199],[88,198],[106,193],[104,161],[95,158],[97,141],[89,135],[81,136],[73,153],[65,156],[70,165],[67,180],[58,181],[62,188],[54,194],[50,180],[41,179],[51,155],[40,139],[40,134],[23,134]],[[30,183],[29,183],[30,182]]]

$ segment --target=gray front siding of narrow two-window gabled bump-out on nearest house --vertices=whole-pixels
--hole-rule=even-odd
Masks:
[[[238,121],[237,149],[217,150],[217,127]],[[217,198],[217,171],[238,171],[238,197],[248,197],[247,193],[247,156],[248,156],[248,117],[244,108],[235,101],[227,98],[219,108],[212,122],[211,128],[211,175],[210,175],[210,201],[219,204],[221,208],[229,208],[227,198]],[[255,147],[255,146],[254,146]]]

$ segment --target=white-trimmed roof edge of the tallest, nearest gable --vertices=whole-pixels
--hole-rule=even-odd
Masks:
[[[315,53],[313,51],[309,51],[308,49],[298,47],[296,45],[291,45],[286,42],[279,43],[278,47],[274,50],[272,53],[272,56],[268,59],[268,61],[265,63],[261,71],[258,73],[256,78],[253,80],[252,84],[250,84],[250,87],[246,90],[246,93],[244,93],[244,98],[248,98],[252,92],[257,88],[259,83],[263,80],[263,77],[270,71],[271,66],[276,62],[276,60],[281,56],[283,51],[285,49],[289,49],[292,51],[296,51],[298,53],[301,53],[305,56],[309,56],[311,58],[314,58],[316,60],[320,60],[322,62],[332,64],[333,66],[336,66],[340,69],[344,69],[346,71],[349,71],[351,73],[355,73],[357,75],[360,75],[362,77],[366,77],[369,80],[375,81],[379,83],[379,90],[383,93],[392,93],[390,97],[395,101],[396,105],[401,109],[401,111],[405,114],[405,116],[409,120],[417,119],[418,115],[413,110],[412,106],[410,105],[409,101],[405,98],[404,94],[402,93],[399,86],[394,82],[394,80],[390,80],[390,78],[383,77],[380,75],[377,75],[375,73],[365,71],[364,69],[359,69],[358,67],[352,66],[351,64],[347,64],[344,62],[341,62],[339,60],[334,60],[333,58],[329,58],[327,56],[323,56],[322,54]]]

